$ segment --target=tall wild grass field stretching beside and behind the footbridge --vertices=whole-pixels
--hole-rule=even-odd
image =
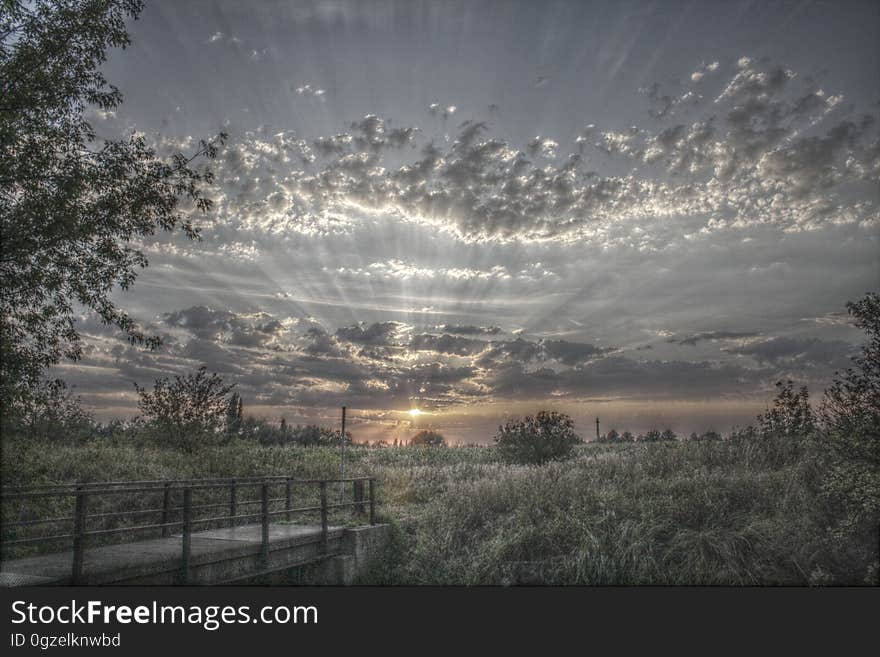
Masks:
[[[585,444],[544,466],[495,449],[350,448],[395,525],[381,584],[870,584],[876,540],[835,538],[808,448],[792,441]],[[195,455],[7,444],[5,485],[338,475],[330,447],[236,443]],[[46,513],[54,512],[46,509]]]

